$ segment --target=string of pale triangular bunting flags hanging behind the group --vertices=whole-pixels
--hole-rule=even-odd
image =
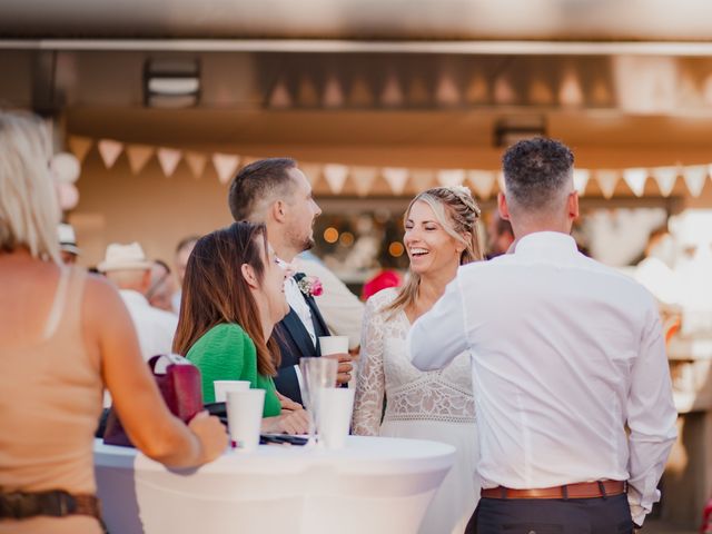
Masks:
[[[170,147],[125,144],[113,139],[95,140],[76,136],[69,138],[69,149],[80,164],[83,164],[95,146],[108,169],[116,165],[122,154],[126,154],[131,172],[138,175],[155,156],[164,175],[168,178],[176,172],[181,160],[186,161],[192,176],[200,178],[208,162],[211,162],[220,184],[224,185],[230,181],[240,166],[259,159],[235,154],[214,152],[208,155]],[[478,198],[486,200],[503,187],[502,172],[488,169],[378,168],[304,161],[299,161],[299,166],[313,182],[323,176],[333,195],[342,194],[350,180],[356,194],[359,197],[366,197],[379,176],[383,177],[394,195],[403,195],[408,185],[414,186],[415,190],[427,189],[435,185],[467,185]],[[642,197],[647,180],[652,179],[657,185],[660,195],[669,197],[678,178],[682,177],[690,195],[699,197],[711,176],[712,164],[627,169],[575,169],[574,186],[580,195],[584,195],[592,180],[595,180],[601,195],[607,199],[613,197],[620,181],[623,180],[634,196]]]

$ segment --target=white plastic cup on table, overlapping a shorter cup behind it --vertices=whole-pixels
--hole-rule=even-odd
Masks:
[[[265,408],[264,389],[227,392],[227,427],[234,448],[257,449]]]

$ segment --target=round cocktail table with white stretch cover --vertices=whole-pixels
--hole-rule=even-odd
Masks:
[[[111,534],[413,534],[454,462],[449,445],[350,436],[342,451],[260,445],[170,472],[95,442]]]

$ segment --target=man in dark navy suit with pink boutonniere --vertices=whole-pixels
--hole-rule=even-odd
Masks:
[[[263,159],[244,167],[230,185],[228,204],[235,220],[267,226],[269,244],[286,268],[299,253],[314,246],[314,220],[322,210],[314,201],[309,180],[293,159]],[[298,403],[301,403],[299,359],[319,356],[318,338],[329,335],[314,300],[312,281],[303,273],[287,278],[289,314],[273,333],[281,352],[275,385],[279,393]],[[345,384],[353,370],[350,356],[338,355],[338,359],[337,382]]]

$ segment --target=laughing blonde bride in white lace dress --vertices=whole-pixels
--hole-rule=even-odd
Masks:
[[[482,258],[478,216],[469,190],[462,186],[415,197],[406,210],[403,239],[411,259],[408,280],[366,304],[354,434],[433,439],[457,449],[421,534],[464,532],[479,498],[469,356],[463,353],[444,369],[424,373],[406,352],[411,324],[443,295],[459,265]]]

